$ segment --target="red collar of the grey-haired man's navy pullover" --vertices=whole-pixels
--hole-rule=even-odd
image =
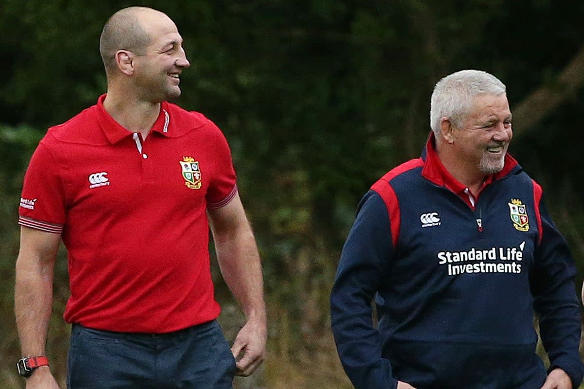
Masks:
[[[442,161],[438,157],[436,152],[436,138],[434,137],[434,132],[430,131],[430,136],[428,136],[428,141],[426,142],[426,148],[422,152],[422,160],[424,162],[422,168],[422,176],[427,180],[432,181],[436,185],[446,187],[456,193],[457,195],[463,197],[465,196],[465,190],[467,187],[460,183],[456,178],[450,174],[446,167],[442,164]],[[494,181],[505,178],[511,171],[519,168],[519,164],[509,153],[505,154],[505,164],[503,165],[503,170],[499,173],[489,174],[486,176],[482,188],[493,183]]]

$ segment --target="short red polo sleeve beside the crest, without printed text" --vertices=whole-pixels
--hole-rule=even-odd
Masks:
[[[211,124],[213,131],[214,171],[207,191],[207,208],[216,209],[227,205],[237,194],[237,177],[231,159],[231,150],[221,130]]]

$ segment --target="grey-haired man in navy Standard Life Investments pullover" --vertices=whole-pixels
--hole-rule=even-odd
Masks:
[[[356,388],[578,388],[575,267],[540,185],[507,153],[511,118],[494,76],[446,76],[422,156],[361,200],[331,295]]]

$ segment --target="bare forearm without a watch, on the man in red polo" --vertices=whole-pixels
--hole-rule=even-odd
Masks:
[[[221,274],[248,320],[266,320],[262,265],[251,227],[215,236]]]

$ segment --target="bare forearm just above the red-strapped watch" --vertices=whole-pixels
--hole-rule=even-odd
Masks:
[[[53,302],[53,264],[16,262],[15,316],[23,356],[45,355]]]

